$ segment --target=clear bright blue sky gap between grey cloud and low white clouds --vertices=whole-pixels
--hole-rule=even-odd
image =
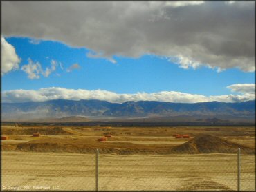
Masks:
[[[202,66],[194,70],[184,69],[156,55],[139,58],[114,57],[116,64],[107,59],[89,58],[86,48],[72,48],[56,41],[41,41],[31,44],[29,38],[7,38],[21,58],[20,68],[28,64],[28,58],[39,61],[42,68],[51,66],[51,60],[63,64],[64,70],[57,68],[49,77],[28,79],[22,70],[15,70],[2,77],[2,90],[39,89],[63,87],[86,90],[109,90],[115,93],[154,93],[179,91],[201,95],[227,95],[231,84],[253,84],[255,73],[232,68],[221,72]],[[73,64],[80,69],[66,69]],[[59,74],[59,75],[57,75]]]

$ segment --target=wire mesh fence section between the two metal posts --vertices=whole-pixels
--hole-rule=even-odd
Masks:
[[[235,190],[236,155],[100,155],[102,190]]]

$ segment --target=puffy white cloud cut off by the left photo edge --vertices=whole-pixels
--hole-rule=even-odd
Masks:
[[[14,46],[1,37],[1,75],[3,76],[11,70],[17,70],[20,61]]]

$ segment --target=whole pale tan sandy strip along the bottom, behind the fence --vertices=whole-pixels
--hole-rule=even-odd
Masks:
[[[95,155],[1,152],[2,190],[95,190]],[[99,155],[99,190],[236,190],[237,155]],[[241,155],[241,190],[255,191],[255,156]]]

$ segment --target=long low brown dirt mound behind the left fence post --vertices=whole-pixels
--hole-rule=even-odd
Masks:
[[[40,140],[31,140],[15,144],[14,151],[30,152],[71,152],[71,153],[95,153],[98,148],[100,153],[115,153],[118,155],[137,154],[137,153],[157,153],[167,148],[158,146],[147,146],[143,144],[132,144],[127,142],[98,142],[95,137],[88,138],[66,138],[66,137],[42,137]],[[8,148],[6,148],[8,151]]]

